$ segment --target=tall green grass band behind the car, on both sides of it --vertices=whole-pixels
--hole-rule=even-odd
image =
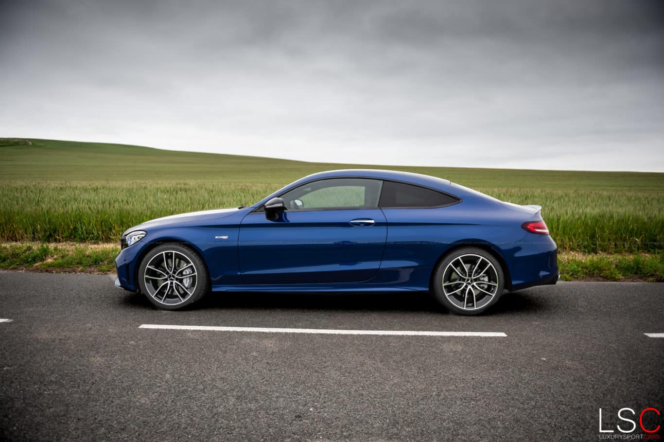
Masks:
[[[148,219],[252,204],[280,185],[132,181],[11,182],[0,187],[2,241],[118,241]],[[542,205],[561,249],[664,249],[664,195],[642,191],[479,189],[517,204]]]

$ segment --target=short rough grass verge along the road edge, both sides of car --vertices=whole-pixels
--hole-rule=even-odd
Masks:
[[[120,247],[92,243],[0,243],[0,269],[52,273],[114,273]],[[664,253],[620,255],[561,251],[562,280],[664,282]]]

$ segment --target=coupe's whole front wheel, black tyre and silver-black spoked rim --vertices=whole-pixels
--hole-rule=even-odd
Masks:
[[[203,259],[181,243],[163,243],[148,251],[137,278],[141,292],[162,310],[185,308],[210,291],[210,276]]]

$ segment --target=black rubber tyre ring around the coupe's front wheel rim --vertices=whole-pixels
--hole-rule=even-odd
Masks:
[[[150,260],[153,259],[153,257],[159,255],[159,253],[169,250],[174,250],[179,253],[182,253],[183,255],[186,255],[187,258],[191,261],[191,263],[193,263],[197,276],[199,276],[197,277],[197,284],[193,294],[189,296],[189,298],[185,302],[176,305],[162,304],[161,302],[155,300],[155,298],[150,296],[149,292],[147,291],[147,287],[145,286],[145,278],[143,276],[145,275],[145,267],[147,267],[147,263],[149,263]],[[197,300],[201,299],[208,292],[210,285],[210,278],[208,276],[207,267],[205,266],[203,259],[201,259],[199,254],[193,249],[191,249],[191,247],[188,247],[181,243],[163,243],[150,249],[145,254],[143,259],[141,259],[141,264],[139,265],[138,268],[137,278],[138,278],[138,285],[141,288],[141,292],[145,295],[147,300],[149,300],[151,304],[153,304],[157,308],[161,308],[162,310],[179,310],[181,308],[185,308],[186,306],[193,304]]]

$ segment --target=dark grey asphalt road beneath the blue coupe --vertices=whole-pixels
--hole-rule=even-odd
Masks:
[[[155,310],[104,275],[0,273],[1,440],[664,438],[664,284],[567,282],[480,317],[422,294],[213,294]],[[505,332],[148,330],[141,324]],[[625,413],[625,417],[631,417]],[[633,434],[643,434],[639,428]],[[608,433],[602,433],[608,434]]]

